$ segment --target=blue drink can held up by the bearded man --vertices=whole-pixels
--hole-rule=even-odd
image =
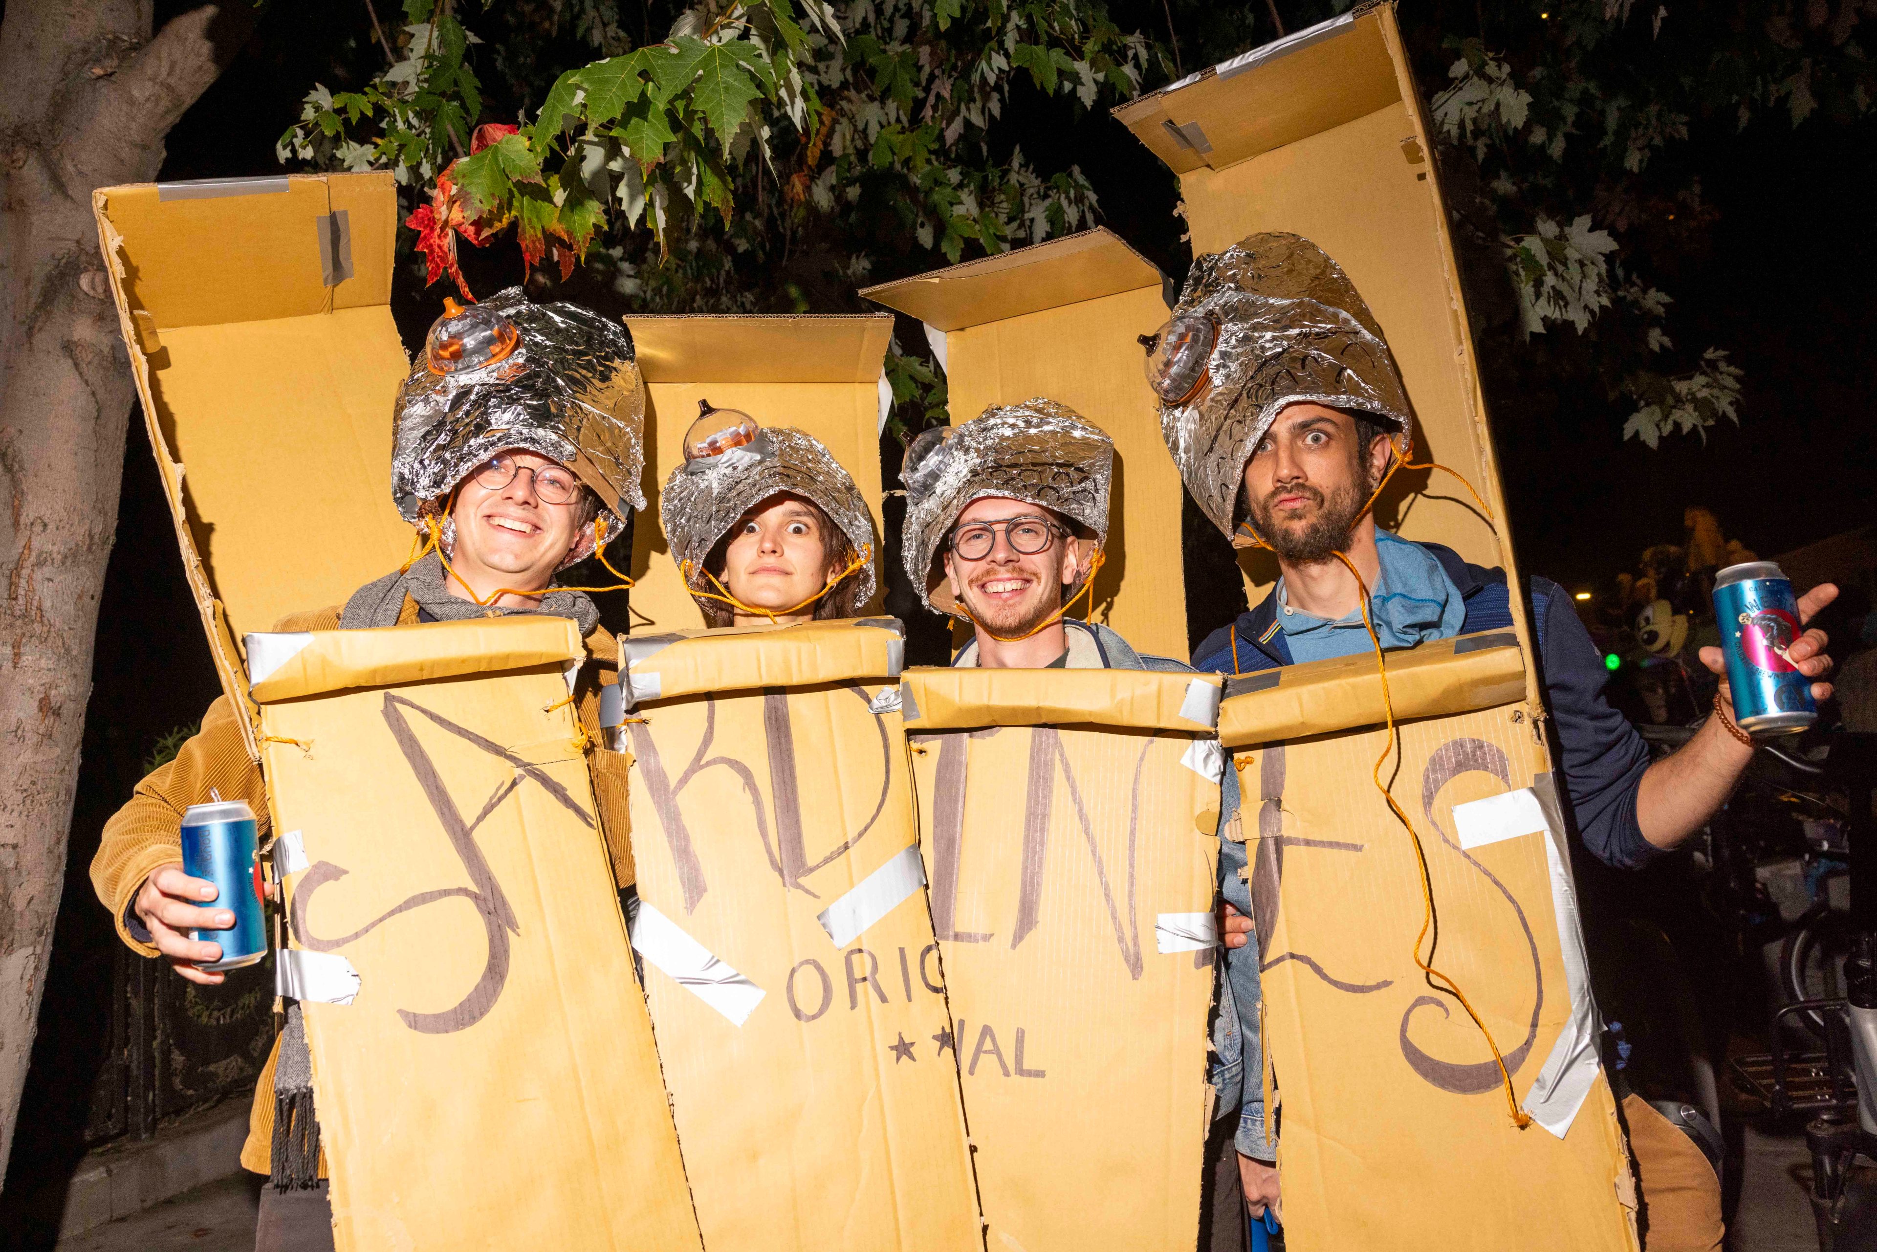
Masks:
[[[1774,561],[1729,565],[1714,576],[1714,619],[1727,653],[1734,723],[1747,734],[1793,734],[1819,719],[1811,679],[1787,648],[1798,642],[1793,580]]]

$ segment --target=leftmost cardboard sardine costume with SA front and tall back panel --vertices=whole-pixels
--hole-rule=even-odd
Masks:
[[[184,571],[268,783],[276,978],[304,1010],[338,1248],[698,1248],[606,867],[625,830],[601,830],[569,704],[574,623],[265,633],[413,550],[387,482],[434,458],[394,462],[387,420],[413,374],[390,175],[103,188],[94,208]],[[514,313],[524,338],[542,317]],[[533,351],[496,368],[514,381]],[[576,413],[597,392],[520,379],[524,443],[572,432],[589,484],[636,479],[629,366],[597,402],[623,426],[597,437]],[[473,462],[507,420],[398,434]]]

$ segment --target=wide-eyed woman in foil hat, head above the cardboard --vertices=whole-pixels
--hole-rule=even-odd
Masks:
[[[873,514],[820,439],[698,404],[659,522],[713,627],[860,616],[873,599]]]

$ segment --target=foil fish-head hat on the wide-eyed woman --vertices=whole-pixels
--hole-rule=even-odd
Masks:
[[[738,518],[777,492],[813,501],[847,537],[858,557],[854,603],[873,599],[873,514],[841,462],[815,435],[794,426],[758,426],[738,409],[698,404],[698,420],[685,435],[685,460],[664,481],[659,524],[672,546],[672,561],[698,608],[706,608],[704,557]]]

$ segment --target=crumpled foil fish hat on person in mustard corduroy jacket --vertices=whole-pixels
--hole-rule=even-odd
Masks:
[[[644,509],[646,385],[633,336],[578,304],[535,304],[509,287],[430,327],[392,411],[390,496],[411,524],[445,507],[503,449],[550,456],[601,503],[606,537]],[[593,552],[593,526],[567,565]]]

